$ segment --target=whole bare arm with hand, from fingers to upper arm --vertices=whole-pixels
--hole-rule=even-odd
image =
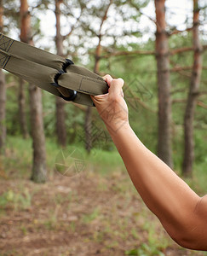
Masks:
[[[207,195],[199,197],[141,143],[129,125],[124,80],[110,75],[104,79],[108,93],[91,98],[136,190],[174,241],[189,249],[207,250]]]

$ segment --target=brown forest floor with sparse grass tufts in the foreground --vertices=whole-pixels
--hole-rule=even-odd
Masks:
[[[126,172],[55,172],[45,184],[10,173],[0,195],[1,256],[207,255],[170,239]]]

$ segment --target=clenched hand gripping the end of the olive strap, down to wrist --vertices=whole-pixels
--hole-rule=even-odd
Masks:
[[[91,96],[98,113],[101,115],[109,132],[117,132],[129,125],[128,108],[124,101],[123,79],[112,79],[110,75],[103,77],[109,86],[108,93]]]

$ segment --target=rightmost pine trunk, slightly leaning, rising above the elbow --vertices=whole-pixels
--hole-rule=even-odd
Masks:
[[[182,166],[183,175],[191,177],[193,174],[194,143],[193,120],[198,101],[198,90],[202,72],[202,45],[199,42],[199,9],[198,0],[193,0],[193,50],[194,61],[190,88],[187,96],[187,107],[184,117],[184,160]]]

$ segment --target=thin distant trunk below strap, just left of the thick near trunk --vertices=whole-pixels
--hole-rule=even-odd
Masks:
[[[19,116],[20,116],[20,131],[22,137],[26,139],[28,137],[28,130],[26,125],[26,96],[24,90],[24,80],[20,79],[19,84]]]

